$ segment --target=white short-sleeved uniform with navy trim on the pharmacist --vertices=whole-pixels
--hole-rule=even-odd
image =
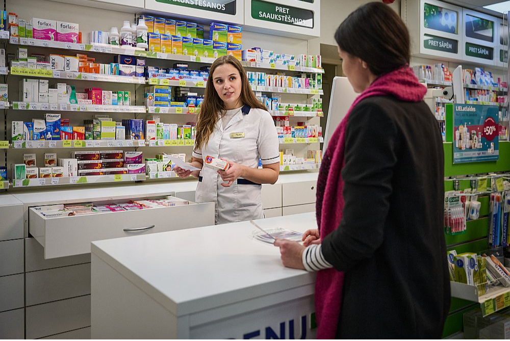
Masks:
[[[206,156],[232,161],[250,168],[280,161],[278,136],[271,115],[261,109],[245,105],[223,129],[218,116],[213,133],[205,147],[193,148],[193,157],[205,160]],[[264,218],[262,211],[262,185],[238,178],[231,187],[216,170],[203,166],[195,192],[196,202],[215,203],[215,222],[224,224]]]

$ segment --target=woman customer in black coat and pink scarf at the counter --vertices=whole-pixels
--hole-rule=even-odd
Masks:
[[[318,230],[280,240],[285,266],[318,271],[317,338],[441,338],[450,307],[439,124],[423,102],[410,37],[381,2],[335,33],[357,93],[317,183]]]

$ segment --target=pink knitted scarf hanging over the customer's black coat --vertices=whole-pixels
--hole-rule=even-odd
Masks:
[[[345,129],[352,108],[363,99],[371,96],[393,96],[401,101],[419,102],[427,89],[418,83],[418,79],[409,66],[378,77],[352,103],[349,111],[329,140],[317,181],[316,215],[321,241],[333,232],[342,220],[344,207],[341,176],[345,165]],[[360,137],[361,138],[361,137]],[[322,205],[323,202],[326,205]],[[340,307],[342,304],[342,287],[344,273],[333,269],[321,270],[317,273],[315,283],[315,311],[317,318],[317,338],[335,338],[339,325]]]

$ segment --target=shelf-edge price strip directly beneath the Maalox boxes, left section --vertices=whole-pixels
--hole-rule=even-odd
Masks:
[[[144,140],[13,141],[13,149],[143,147]]]

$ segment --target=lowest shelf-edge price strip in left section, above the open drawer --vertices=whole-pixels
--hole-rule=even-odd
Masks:
[[[81,185],[84,183],[143,181],[145,174],[112,174],[70,177],[46,177],[37,179],[12,180],[12,187],[39,187],[53,185]]]

